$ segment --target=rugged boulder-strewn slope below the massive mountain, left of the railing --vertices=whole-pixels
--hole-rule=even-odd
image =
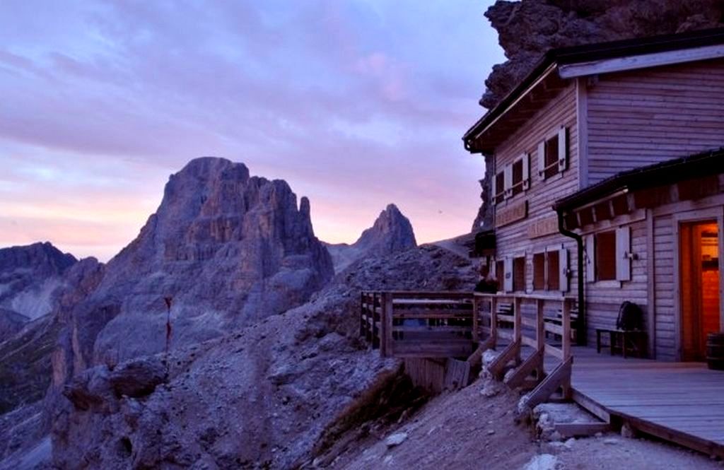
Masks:
[[[466,259],[424,246],[357,261],[297,309],[163,356],[79,374],[54,416],[61,468],[294,468],[390,408],[399,365],[358,340],[362,289],[471,289]],[[408,386],[409,388],[409,386]],[[396,390],[396,391],[395,391]],[[407,391],[405,391],[407,390]],[[395,416],[396,419],[396,416]]]

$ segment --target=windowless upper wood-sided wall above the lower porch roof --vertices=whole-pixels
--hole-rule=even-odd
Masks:
[[[600,75],[586,94],[589,184],[724,146],[724,59]]]

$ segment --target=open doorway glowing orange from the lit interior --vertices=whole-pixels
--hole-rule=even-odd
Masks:
[[[681,359],[704,361],[707,334],[720,331],[719,228],[715,220],[680,227]]]

